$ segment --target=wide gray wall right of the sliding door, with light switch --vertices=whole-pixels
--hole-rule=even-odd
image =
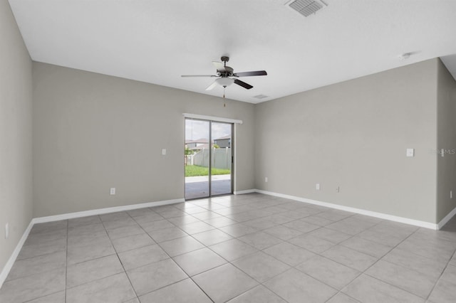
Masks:
[[[435,223],[437,64],[255,105],[256,188]]]

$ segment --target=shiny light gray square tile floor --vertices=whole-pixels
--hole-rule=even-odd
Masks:
[[[0,302],[456,302],[434,231],[252,193],[33,226]]]

